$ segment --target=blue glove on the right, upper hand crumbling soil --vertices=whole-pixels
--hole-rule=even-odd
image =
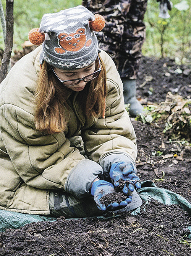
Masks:
[[[129,163],[116,162],[112,164],[109,175],[115,187],[120,185],[120,181],[128,182],[122,189],[124,194],[131,194],[134,188],[141,188],[140,179],[136,175],[136,170],[130,160]]]

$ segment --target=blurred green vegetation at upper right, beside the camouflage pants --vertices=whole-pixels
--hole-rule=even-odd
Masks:
[[[145,15],[145,56],[173,56],[185,63],[191,60],[191,0],[172,0],[170,18],[159,18],[159,2],[148,0]]]

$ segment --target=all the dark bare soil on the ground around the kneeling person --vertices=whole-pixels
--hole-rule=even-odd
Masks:
[[[143,57],[138,77],[142,104],[159,104],[167,92],[191,97],[191,69],[173,59]],[[151,180],[191,202],[190,142],[171,139],[165,122],[142,123],[131,118],[137,135],[136,165],[142,181]],[[121,212],[108,218],[31,223],[0,234],[0,256],[189,256],[191,217],[178,205],[155,200],[140,214]],[[187,241],[187,242],[186,242]]]

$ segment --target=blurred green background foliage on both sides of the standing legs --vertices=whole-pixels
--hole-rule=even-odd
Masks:
[[[5,0],[2,0],[5,11]],[[159,18],[159,2],[148,0],[145,14],[146,40],[144,56],[172,57],[177,64],[191,63],[191,0],[172,0],[170,18]],[[22,49],[28,32],[39,27],[45,13],[59,12],[81,4],[81,0],[15,0],[13,53]],[[0,49],[4,50],[3,31],[0,26]]]

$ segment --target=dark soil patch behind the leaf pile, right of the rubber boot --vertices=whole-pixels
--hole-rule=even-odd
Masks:
[[[191,64],[178,65],[174,59],[142,57],[137,96],[143,104],[165,101],[167,92],[191,98]]]

